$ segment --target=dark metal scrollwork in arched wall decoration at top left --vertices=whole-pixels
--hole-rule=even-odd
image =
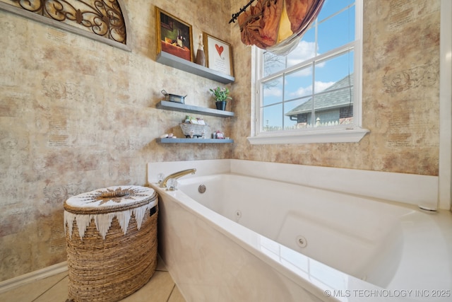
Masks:
[[[126,44],[126,25],[117,0],[10,0],[13,6]]]

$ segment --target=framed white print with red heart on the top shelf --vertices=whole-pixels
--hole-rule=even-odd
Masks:
[[[231,45],[208,33],[203,33],[203,42],[207,67],[222,74],[234,76]]]

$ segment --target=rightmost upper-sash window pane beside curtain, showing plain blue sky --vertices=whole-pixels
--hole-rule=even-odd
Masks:
[[[319,23],[319,52],[322,54],[355,40],[355,6]]]

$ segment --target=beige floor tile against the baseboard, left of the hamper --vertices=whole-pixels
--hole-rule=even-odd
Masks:
[[[67,272],[62,272],[56,274],[52,277],[47,277],[45,279],[40,279],[23,286],[11,289],[11,291],[6,291],[6,293],[0,294],[0,301],[8,302],[28,302],[33,301],[35,298],[42,295],[47,289],[57,284],[59,281],[64,279],[68,275]],[[67,291],[67,289],[66,289]],[[66,299],[65,299],[66,300]],[[62,301],[65,301],[62,300]]]

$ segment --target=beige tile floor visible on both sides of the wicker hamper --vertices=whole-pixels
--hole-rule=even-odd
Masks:
[[[165,264],[158,259],[153,277],[141,289],[121,302],[185,302]],[[40,279],[0,294],[2,302],[65,302],[68,297],[68,272]]]

